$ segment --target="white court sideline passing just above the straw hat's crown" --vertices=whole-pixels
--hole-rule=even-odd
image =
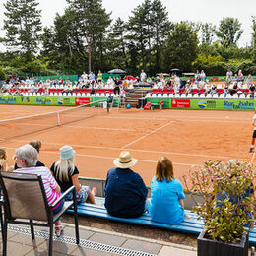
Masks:
[[[22,143],[29,143],[30,141],[24,141],[24,140],[10,140],[12,142],[22,142]],[[48,145],[58,145],[58,146],[63,146],[63,143],[53,143],[53,142],[43,142],[42,144],[48,144]],[[89,146],[89,145],[81,145],[81,144],[70,144],[72,147],[80,147],[80,148],[88,148],[88,149],[102,149],[102,150],[113,150],[113,151],[121,151],[122,148],[113,148],[113,147],[104,147],[104,146]],[[227,159],[229,160],[230,158],[236,158],[240,160],[245,160],[241,159],[239,157],[225,157],[225,156],[213,156],[213,155],[202,155],[202,154],[192,154],[192,153],[179,153],[179,152],[166,152],[166,151],[149,151],[149,150],[136,150],[136,149],[126,149],[131,152],[143,152],[143,153],[153,153],[153,154],[166,154],[166,155],[177,155],[177,156],[188,156],[188,157],[199,157],[199,158],[211,158],[211,159]]]

